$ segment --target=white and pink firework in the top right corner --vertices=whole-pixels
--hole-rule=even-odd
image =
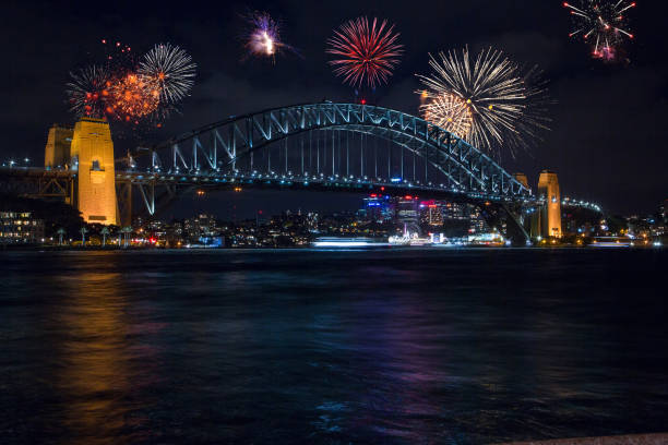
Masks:
[[[575,29],[569,37],[582,36],[592,45],[593,57],[612,60],[618,46],[632,39],[628,29],[625,12],[635,8],[635,2],[625,0],[580,0],[580,7],[564,2],[573,16]]]

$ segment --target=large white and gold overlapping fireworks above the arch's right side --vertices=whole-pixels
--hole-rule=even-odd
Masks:
[[[520,67],[491,48],[474,60],[468,48],[430,56],[430,75],[418,75],[426,91],[420,107],[426,120],[490,152],[514,155],[547,129],[547,92],[537,71]]]

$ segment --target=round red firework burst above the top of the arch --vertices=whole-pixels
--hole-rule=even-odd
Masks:
[[[330,61],[334,74],[353,86],[367,83],[374,88],[377,84],[387,83],[404,52],[404,46],[397,43],[398,36],[386,20],[380,26],[377,19],[370,24],[366,16],[344,23],[327,40],[327,53],[337,57]]]

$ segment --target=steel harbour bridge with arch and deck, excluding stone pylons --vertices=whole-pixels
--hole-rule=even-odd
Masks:
[[[76,163],[2,168],[0,182],[15,193],[75,205],[71,196],[85,173]],[[530,239],[525,215],[545,204],[526,181],[454,134],[405,112],[361,104],[324,101],[231,116],[138,147],[117,157],[112,171],[123,225],[133,202],[135,215],[155,216],[194,190],[379,192],[479,206],[492,227],[523,244]]]

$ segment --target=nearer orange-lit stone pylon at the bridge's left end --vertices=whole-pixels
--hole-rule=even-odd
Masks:
[[[114,142],[109,122],[82,118],[74,125],[71,168],[77,171],[74,200],[86,222],[117,224]]]

